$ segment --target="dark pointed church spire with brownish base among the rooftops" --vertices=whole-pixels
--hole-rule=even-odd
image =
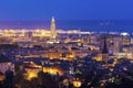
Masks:
[[[106,45],[106,40],[104,37],[104,45],[103,45],[103,50],[102,50],[102,61],[108,64],[109,61],[109,51],[108,51],[108,45]]]

